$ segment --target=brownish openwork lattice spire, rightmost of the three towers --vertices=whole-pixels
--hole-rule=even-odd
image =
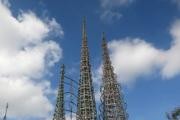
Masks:
[[[102,38],[103,49],[103,77],[101,89],[102,101],[102,119],[103,120],[127,120],[127,114],[121,93],[121,87],[117,82],[114,73],[109,52],[107,48],[106,38],[103,33]]]

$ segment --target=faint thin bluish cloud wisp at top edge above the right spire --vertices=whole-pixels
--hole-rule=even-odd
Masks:
[[[100,0],[101,20],[109,23],[114,20],[119,20],[122,17],[119,9],[123,6],[131,4],[133,1],[134,0]]]

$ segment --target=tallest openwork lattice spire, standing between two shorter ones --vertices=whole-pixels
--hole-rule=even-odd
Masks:
[[[96,104],[92,85],[91,65],[87,45],[86,21],[83,19],[80,81],[78,88],[77,120],[96,120]]]

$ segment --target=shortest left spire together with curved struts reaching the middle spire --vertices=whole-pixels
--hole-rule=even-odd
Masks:
[[[78,85],[76,80],[66,76],[65,65],[62,65],[53,120],[76,120]],[[80,119],[80,116],[77,118]]]

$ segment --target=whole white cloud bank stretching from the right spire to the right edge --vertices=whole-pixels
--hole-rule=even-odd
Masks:
[[[139,38],[110,41],[108,48],[118,80],[121,83],[129,84],[135,82],[139,77],[154,72],[159,73],[163,79],[171,79],[179,75],[180,20],[173,23],[170,34],[173,40],[171,47],[167,50],[158,49]],[[101,74],[102,72],[97,72],[97,76]]]

